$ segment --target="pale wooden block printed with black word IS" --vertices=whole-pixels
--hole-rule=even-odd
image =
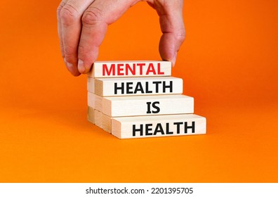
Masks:
[[[194,112],[194,98],[185,95],[102,97],[102,113],[110,117]]]

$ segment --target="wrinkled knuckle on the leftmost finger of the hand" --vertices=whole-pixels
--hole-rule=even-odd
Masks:
[[[79,14],[76,8],[66,4],[60,10],[60,18],[64,25],[72,25],[74,21],[78,20]]]

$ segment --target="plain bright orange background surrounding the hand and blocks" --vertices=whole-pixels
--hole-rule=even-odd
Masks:
[[[185,1],[173,76],[207,134],[119,140],[86,120],[86,75],[60,56],[59,1],[0,8],[0,182],[278,182],[276,0]],[[136,4],[98,60],[156,60],[157,13]]]

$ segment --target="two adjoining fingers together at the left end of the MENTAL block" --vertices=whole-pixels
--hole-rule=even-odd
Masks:
[[[60,48],[74,76],[87,73],[98,57],[107,25],[139,0],[62,0],[58,8]]]

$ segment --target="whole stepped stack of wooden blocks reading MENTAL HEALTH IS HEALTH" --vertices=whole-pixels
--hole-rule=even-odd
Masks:
[[[88,74],[88,121],[120,139],[206,134],[168,61],[99,61]]]

